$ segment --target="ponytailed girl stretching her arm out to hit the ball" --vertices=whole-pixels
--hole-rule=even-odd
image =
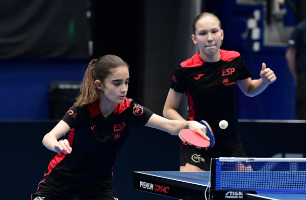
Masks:
[[[43,138],[55,153],[32,200],[118,199],[112,166],[132,126],[172,135],[189,128],[207,138],[198,122],[167,120],[126,98],[129,79],[129,66],[115,55],[89,63],[77,102]]]

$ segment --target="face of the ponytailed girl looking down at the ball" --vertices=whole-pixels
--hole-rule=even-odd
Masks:
[[[114,103],[123,103],[129,88],[129,79],[129,69],[126,66],[113,69],[102,84],[106,99]]]

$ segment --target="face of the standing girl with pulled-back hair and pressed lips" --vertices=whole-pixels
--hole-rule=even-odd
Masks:
[[[223,40],[223,30],[219,20],[212,16],[200,18],[195,23],[195,35],[192,35],[194,44],[207,56],[214,55],[220,49]]]

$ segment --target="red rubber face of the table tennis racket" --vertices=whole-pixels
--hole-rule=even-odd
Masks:
[[[203,138],[199,134],[189,129],[182,129],[179,133],[179,137],[186,144],[195,147],[197,149],[207,149],[210,146],[210,141]]]

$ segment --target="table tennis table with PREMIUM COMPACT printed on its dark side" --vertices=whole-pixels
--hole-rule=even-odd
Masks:
[[[134,172],[134,189],[185,200],[221,199],[210,196],[210,172]],[[207,192],[206,192],[207,191]],[[306,193],[247,193],[224,191],[223,199],[302,200]]]

